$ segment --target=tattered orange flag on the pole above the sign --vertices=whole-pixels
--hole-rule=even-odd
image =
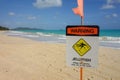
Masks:
[[[77,0],[77,3],[78,3],[78,7],[73,8],[72,10],[76,15],[80,15],[83,18],[84,17],[83,0]]]

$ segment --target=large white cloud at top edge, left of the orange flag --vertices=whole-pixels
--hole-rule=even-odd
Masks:
[[[37,8],[60,7],[62,6],[62,0],[36,0],[33,6]]]

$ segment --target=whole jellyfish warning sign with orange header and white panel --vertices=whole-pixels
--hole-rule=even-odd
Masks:
[[[96,25],[67,26],[67,64],[97,67],[99,27]]]

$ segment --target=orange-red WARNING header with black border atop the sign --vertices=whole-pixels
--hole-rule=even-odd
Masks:
[[[69,36],[99,36],[97,25],[67,26],[66,35]]]

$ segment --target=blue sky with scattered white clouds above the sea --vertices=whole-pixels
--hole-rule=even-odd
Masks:
[[[0,0],[0,26],[65,29],[80,25],[77,0]],[[120,29],[120,0],[84,0],[84,25]]]

